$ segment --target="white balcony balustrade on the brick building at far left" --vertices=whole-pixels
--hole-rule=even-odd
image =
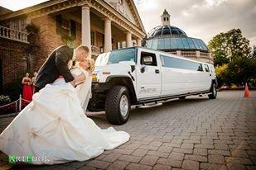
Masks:
[[[15,31],[5,26],[0,26],[0,37],[2,38],[28,43],[27,35],[27,32]]]

